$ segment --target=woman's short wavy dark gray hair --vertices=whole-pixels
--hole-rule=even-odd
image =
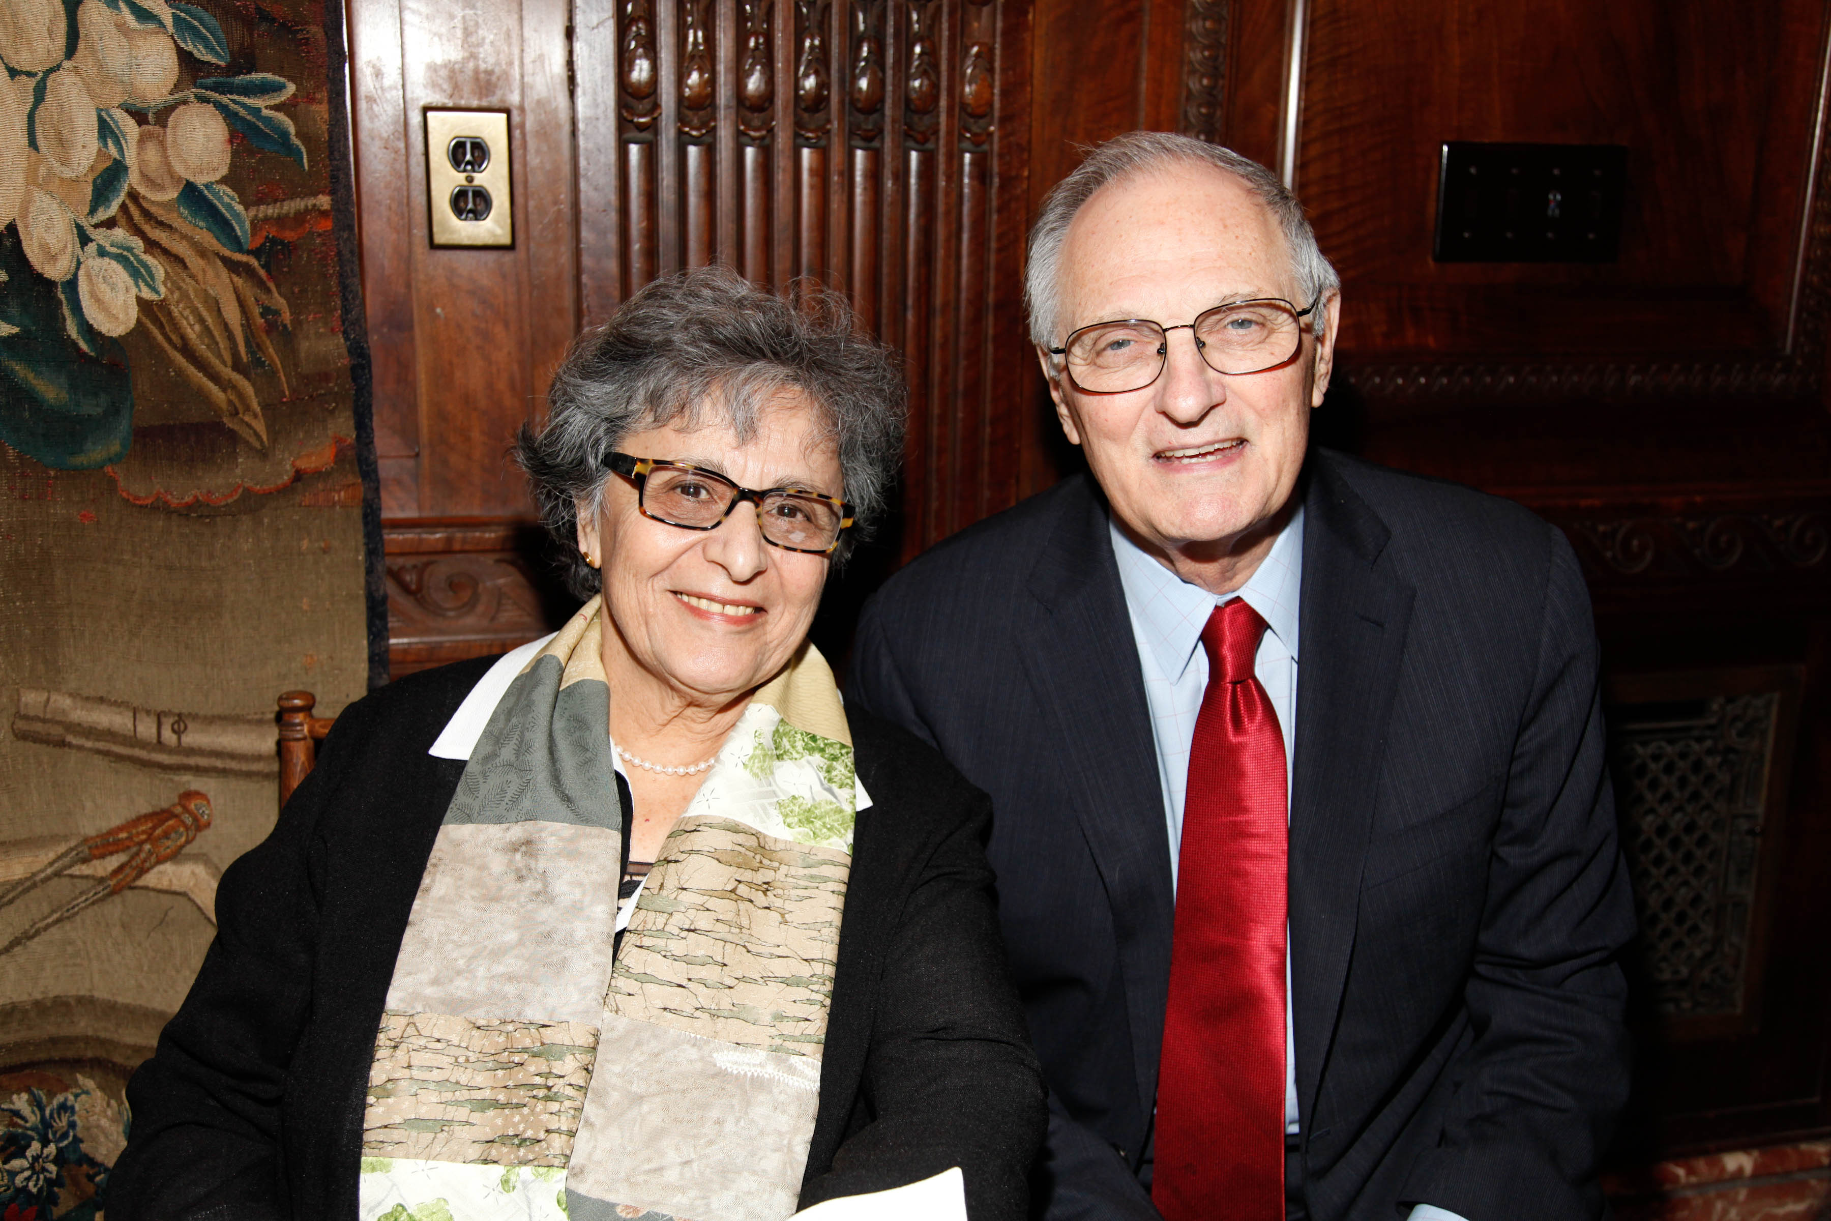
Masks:
[[[602,588],[579,555],[579,507],[602,509],[615,478],[604,459],[623,438],[723,423],[749,441],[760,410],[782,392],[807,397],[817,438],[839,450],[857,518],[833,553],[839,560],[884,509],[906,412],[895,355],[857,331],[844,297],[775,297],[734,271],[701,267],[645,286],[610,322],[575,339],[553,373],[546,425],[522,425],[515,443],[566,586],[580,599]]]

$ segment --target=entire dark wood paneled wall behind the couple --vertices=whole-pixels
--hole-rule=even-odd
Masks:
[[[505,648],[564,608],[505,450],[569,337],[677,267],[824,282],[906,353],[903,516],[879,566],[1046,487],[1078,459],[1024,342],[1029,214],[1082,145],[1133,128],[1216,139],[1295,181],[1342,271],[1318,434],[1560,525],[1617,716],[1641,734],[1622,749],[1732,756],[1765,785],[1736,798],[1725,826],[1752,846],[1699,882],[1717,906],[1685,932],[1739,990],[1703,1016],[1637,1018],[1642,1146],[1624,1157],[1831,1131],[1827,0],[350,13],[397,672]],[[430,249],[425,106],[509,110],[513,251]],[[1620,260],[1434,264],[1452,139],[1626,145]],[[1769,710],[1771,740],[1749,708]],[[1646,729],[1652,714],[1670,725]],[[1712,732],[1728,734],[1717,754]],[[1688,816],[1692,800],[1626,798],[1628,818]],[[1666,897],[1690,884],[1668,875]],[[1642,957],[1644,979],[1657,956]]]

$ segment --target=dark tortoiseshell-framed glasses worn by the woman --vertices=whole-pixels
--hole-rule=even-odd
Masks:
[[[853,522],[844,500],[806,487],[738,487],[690,461],[663,461],[612,452],[604,465],[635,483],[645,518],[681,529],[718,529],[742,502],[756,505],[764,542],[784,551],[831,555]]]

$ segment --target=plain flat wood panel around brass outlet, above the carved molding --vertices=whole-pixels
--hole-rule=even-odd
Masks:
[[[348,5],[386,520],[529,511],[504,454],[579,328],[569,7]],[[427,106],[509,112],[515,249],[430,245]]]

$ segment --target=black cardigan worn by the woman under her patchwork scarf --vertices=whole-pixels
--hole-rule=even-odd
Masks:
[[[465,767],[427,749],[493,661],[352,705],[273,835],[223,873],[216,941],[128,1084],[110,1221],[355,1217],[375,1029]],[[873,804],[800,1203],[959,1166],[974,1221],[1016,1221],[1046,1109],[992,910],[991,804],[905,730],[848,719]]]

